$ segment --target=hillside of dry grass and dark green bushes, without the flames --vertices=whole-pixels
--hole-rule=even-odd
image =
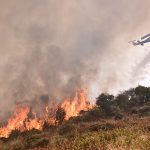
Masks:
[[[43,130],[13,130],[0,139],[0,150],[148,150],[150,149],[150,88],[138,86],[117,96],[102,93],[94,107]]]

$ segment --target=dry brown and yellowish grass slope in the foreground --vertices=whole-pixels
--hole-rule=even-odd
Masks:
[[[0,150],[149,150],[150,118],[66,122],[53,130],[0,141]]]

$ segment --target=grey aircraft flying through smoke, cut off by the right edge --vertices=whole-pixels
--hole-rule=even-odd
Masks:
[[[150,42],[150,33],[141,37],[139,40],[130,41],[129,43],[132,43],[134,46],[136,45],[142,45],[144,46],[145,43]]]

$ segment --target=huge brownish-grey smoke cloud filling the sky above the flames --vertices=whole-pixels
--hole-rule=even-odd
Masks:
[[[1,111],[42,94],[62,100],[82,86],[93,98],[136,85],[149,56],[128,41],[149,33],[149,4],[1,0]]]

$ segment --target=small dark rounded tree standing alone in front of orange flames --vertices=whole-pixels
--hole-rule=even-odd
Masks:
[[[56,110],[56,116],[55,116],[55,125],[62,124],[62,122],[65,120],[66,112],[63,108],[60,106]]]

